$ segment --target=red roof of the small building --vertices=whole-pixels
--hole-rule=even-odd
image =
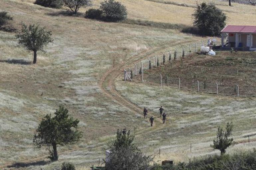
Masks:
[[[231,26],[227,25],[221,32],[234,32],[234,33],[256,33],[256,26]]]

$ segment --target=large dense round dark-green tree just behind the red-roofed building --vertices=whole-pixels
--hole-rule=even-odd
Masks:
[[[193,25],[198,27],[202,35],[220,35],[225,27],[226,15],[213,3],[197,4],[194,14]]]

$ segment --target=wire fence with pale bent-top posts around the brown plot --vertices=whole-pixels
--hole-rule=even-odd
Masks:
[[[220,42],[215,42],[215,44],[219,44]],[[194,42],[193,44],[186,43],[183,46],[171,47],[170,50],[163,51],[162,53],[157,53],[154,56],[149,56],[148,58],[142,60],[141,62],[134,63],[133,66],[126,68],[127,75],[129,78],[133,79],[135,75],[140,75],[141,81],[152,81],[154,84],[158,84],[160,86],[172,86],[177,87],[184,90],[190,91],[198,91],[210,94],[222,94],[222,95],[233,95],[233,96],[255,96],[256,95],[256,87],[250,84],[240,84],[236,82],[223,82],[223,81],[200,81],[196,78],[184,78],[179,77],[177,74],[173,77],[167,77],[166,75],[160,74],[151,74],[147,75],[148,70],[158,67],[159,65],[165,63],[169,63],[169,57],[171,56],[171,63],[176,60],[181,60],[184,57],[189,57],[195,52],[200,51],[201,46],[207,45],[207,40]],[[175,51],[178,51],[175,59]],[[183,52],[184,51],[184,52]],[[146,75],[145,75],[146,74]],[[150,79],[148,78],[150,76]],[[161,83],[162,76],[162,83]],[[143,77],[143,78],[142,78]],[[127,77],[126,80],[129,80]],[[248,90],[250,89],[250,90]]]

